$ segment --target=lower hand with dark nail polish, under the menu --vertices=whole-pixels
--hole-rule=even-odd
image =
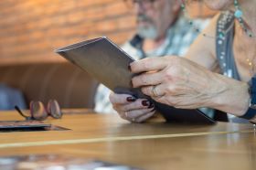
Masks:
[[[130,122],[144,122],[155,113],[155,106],[146,99],[135,99],[127,94],[110,94],[113,109]]]

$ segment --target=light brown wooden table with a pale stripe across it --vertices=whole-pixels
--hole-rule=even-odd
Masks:
[[[251,124],[136,124],[82,112],[48,119],[69,131],[0,133],[0,155],[70,154],[144,169],[256,168]],[[22,120],[16,112],[0,112],[0,120],[14,119]]]

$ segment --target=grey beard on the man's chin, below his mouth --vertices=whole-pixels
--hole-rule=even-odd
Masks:
[[[154,26],[137,27],[137,34],[143,38],[155,39],[158,36],[158,31]]]

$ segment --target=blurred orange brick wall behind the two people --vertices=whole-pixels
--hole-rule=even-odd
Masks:
[[[191,16],[212,16],[189,6]],[[62,62],[53,50],[91,37],[122,44],[134,32],[135,17],[123,0],[0,1],[0,64]]]

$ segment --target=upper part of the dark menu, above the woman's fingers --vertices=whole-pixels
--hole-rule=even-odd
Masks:
[[[114,92],[145,98],[140,89],[133,89],[131,85],[133,74],[128,66],[134,61],[133,58],[107,37],[82,41],[59,48],[55,52],[87,71],[91,77]]]

